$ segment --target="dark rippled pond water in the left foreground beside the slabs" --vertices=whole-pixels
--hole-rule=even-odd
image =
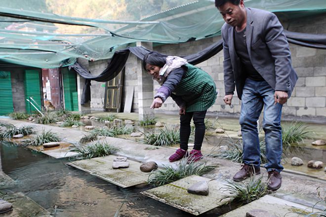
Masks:
[[[121,188],[11,143],[1,142],[2,171],[14,180],[0,191],[22,192],[54,217],[189,217],[188,213],[141,195],[152,186]],[[202,217],[226,211],[213,210]],[[28,214],[26,215],[28,217]]]

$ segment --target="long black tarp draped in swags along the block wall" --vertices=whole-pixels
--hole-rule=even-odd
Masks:
[[[315,35],[315,34],[305,34],[305,33],[294,33],[289,31],[284,31],[285,36],[289,43],[311,47],[311,48],[319,48],[326,49],[326,35]],[[209,47],[206,47],[204,50],[199,51],[195,54],[190,54],[188,56],[184,56],[188,63],[196,65],[205,60],[211,58],[216,55],[223,49],[222,40],[219,40]],[[115,76],[121,72],[124,67],[129,53],[133,53],[139,59],[143,59],[144,56],[149,53],[151,50],[146,49],[144,47],[128,47],[122,50],[119,50],[114,53],[108,67],[99,75],[93,76],[87,70],[82,68],[79,63],[75,63],[70,66],[73,68],[78,74],[80,74],[83,78],[86,78],[86,83],[82,91],[82,102],[81,104],[85,104],[90,100],[90,80],[95,81],[109,81],[113,79]],[[168,54],[167,54],[168,55]]]

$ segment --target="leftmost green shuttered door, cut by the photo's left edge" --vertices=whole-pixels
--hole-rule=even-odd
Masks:
[[[0,71],[0,115],[13,112],[10,72]]]

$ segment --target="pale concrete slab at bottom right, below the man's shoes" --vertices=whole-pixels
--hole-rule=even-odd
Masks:
[[[258,213],[258,211],[261,213],[268,213],[275,217],[298,217],[298,212],[308,214],[312,212],[312,209],[300,204],[266,195],[235,209],[234,211],[224,214],[221,217],[245,217],[246,213],[254,214]],[[319,210],[314,209],[314,212],[319,212]]]

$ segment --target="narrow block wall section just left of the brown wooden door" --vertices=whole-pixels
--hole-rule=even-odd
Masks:
[[[108,66],[108,60],[99,60],[89,62],[88,64],[88,70],[92,75],[98,75]],[[104,84],[104,87],[102,87],[102,84]],[[103,111],[105,102],[105,82],[91,81],[90,93],[90,109]]]

